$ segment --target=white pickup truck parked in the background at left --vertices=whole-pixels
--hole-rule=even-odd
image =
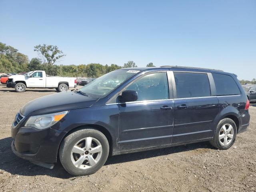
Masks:
[[[24,75],[12,75],[8,78],[7,87],[15,88],[16,92],[24,92],[26,88],[56,88],[58,92],[75,88],[74,77],[48,77],[45,71],[30,71]]]

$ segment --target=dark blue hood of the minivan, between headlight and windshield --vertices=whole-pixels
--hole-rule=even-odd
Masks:
[[[86,108],[92,106],[98,99],[84,96],[80,93],[67,91],[40,97],[28,102],[22,107],[20,113],[24,116],[34,116]]]

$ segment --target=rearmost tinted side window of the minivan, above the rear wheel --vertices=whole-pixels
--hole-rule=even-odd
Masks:
[[[235,80],[231,76],[217,73],[212,73],[212,76],[215,82],[217,96],[241,94]]]

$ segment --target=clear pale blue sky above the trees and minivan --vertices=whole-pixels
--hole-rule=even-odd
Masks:
[[[0,0],[0,42],[57,64],[178,65],[256,78],[255,0]]]

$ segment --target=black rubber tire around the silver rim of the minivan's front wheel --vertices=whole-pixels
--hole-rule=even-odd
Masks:
[[[83,170],[80,168],[76,168],[74,166],[74,164],[71,161],[70,154],[76,142],[86,137],[96,138],[100,142],[100,144],[102,145],[102,156],[99,162],[95,166],[93,166],[92,168]],[[108,158],[108,153],[109,153],[109,144],[104,134],[94,129],[83,129],[83,130],[78,130],[73,134],[70,134],[67,138],[64,139],[60,147],[60,162],[62,163],[66,171],[74,176],[89,175],[98,171],[105,164]]]

